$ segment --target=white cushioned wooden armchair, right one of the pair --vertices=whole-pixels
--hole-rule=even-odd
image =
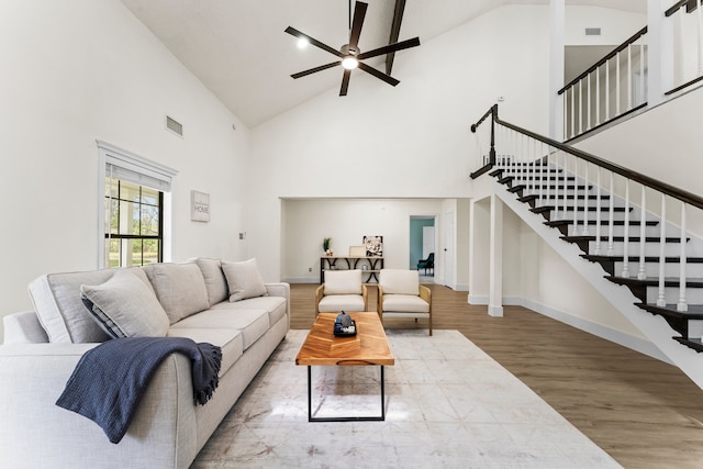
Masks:
[[[427,319],[432,335],[432,290],[420,284],[417,270],[381,269],[378,276],[378,314]]]

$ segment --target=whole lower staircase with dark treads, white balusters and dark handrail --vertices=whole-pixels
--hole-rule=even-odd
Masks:
[[[703,199],[498,119],[493,192],[703,388]],[[499,129],[495,126],[499,125]],[[500,149],[498,156],[496,148]]]

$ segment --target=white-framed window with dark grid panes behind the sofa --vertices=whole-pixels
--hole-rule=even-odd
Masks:
[[[170,260],[170,192],[177,171],[98,141],[99,267]]]

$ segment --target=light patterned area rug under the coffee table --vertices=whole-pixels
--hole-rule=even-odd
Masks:
[[[308,422],[290,331],[192,468],[615,468],[611,456],[457,331],[387,331],[384,422]],[[380,414],[379,367],[313,367],[315,416]]]

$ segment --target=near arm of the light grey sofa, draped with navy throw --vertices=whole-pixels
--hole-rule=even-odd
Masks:
[[[97,344],[0,346],[0,455],[12,468],[187,468],[197,454],[190,365],[156,370],[130,428],[112,444],[92,421],[55,404],[76,364]]]

